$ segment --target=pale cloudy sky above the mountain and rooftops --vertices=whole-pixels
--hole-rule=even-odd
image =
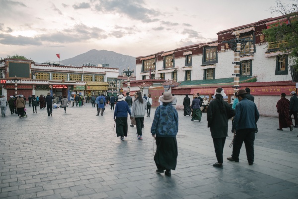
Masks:
[[[292,0],[281,0],[292,3]],[[134,57],[217,40],[217,33],[276,17],[276,0],[0,0],[0,57],[35,62],[89,50]]]

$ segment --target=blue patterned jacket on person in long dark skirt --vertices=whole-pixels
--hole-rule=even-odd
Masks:
[[[151,127],[152,135],[157,137],[176,137],[178,133],[178,113],[171,105],[157,107]]]

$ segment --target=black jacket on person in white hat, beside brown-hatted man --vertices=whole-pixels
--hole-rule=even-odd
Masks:
[[[220,101],[224,104],[224,112],[221,112]],[[210,127],[211,137],[212,138],[223,138],[227,137],[228,131],[228,119],[233,117],[236,114],[236,111],[230,107],[230,105],[225,102],[223,99],[216,98],[213,100],[207,109],[207,127]]]

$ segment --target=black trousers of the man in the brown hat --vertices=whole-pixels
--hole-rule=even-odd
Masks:
[[[255,140],[255,131],[256,131],[255,129],[241,129],[236,132],[236,136],[233,142],[233,154],[232,154],[232,158],[234,160],[239,160],[240,149],[244,141],[248,163],[253,163],[254,161],[253,142]]]

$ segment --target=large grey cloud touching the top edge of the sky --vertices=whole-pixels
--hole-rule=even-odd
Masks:
[[[155,18],[161,13],[154,9],[147,9],[143,0],[98,0],[95,9],[103,13],[119,13],[144,23],[159,21]]]

